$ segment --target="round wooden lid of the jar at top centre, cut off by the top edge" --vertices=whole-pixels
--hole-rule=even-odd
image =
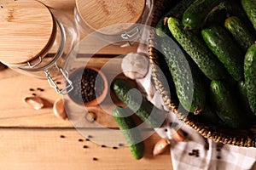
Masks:
[[[140,20],[145,3],[146,0],[76,0],[76,8],[80,18],[92,30],[114,35],[127,31],[132,26],[120,24],[135,24]],[[119,26],[102,29],[113,25]]]

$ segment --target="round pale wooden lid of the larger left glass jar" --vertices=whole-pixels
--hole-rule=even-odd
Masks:
[[[53,42],[55,21],[43,3],[15,1],[0,9],[0,60],[18,65],[38,58]]]

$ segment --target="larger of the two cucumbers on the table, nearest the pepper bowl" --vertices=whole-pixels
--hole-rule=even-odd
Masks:
[[[165,121],[166,113],[154,107],[146,98],[133,88],[131,84],[124,79],[117,78],[113,81],[112,89],[114,94],[124,102],[134,113],[139,116],[143,122],[150,127],[160,127]]]

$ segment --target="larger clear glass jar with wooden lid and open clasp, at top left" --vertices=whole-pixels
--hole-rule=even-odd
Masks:
[[[76,55],[79,31],[67,15],[33,0],[15,1],[0,9],[0,60],[15,71],[48,79],[58,94],[73,89],[63,67],[70,55]],[[69,84],[59,88],[55,78]]]

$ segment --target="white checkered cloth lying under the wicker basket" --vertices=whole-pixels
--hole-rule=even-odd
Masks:
[[[160,94],[157,93],[150,82],[151,69],[143,79],[137,79],[137,84],[141,90],[147,94],[156,107],[166,110]],[[243,148],[230,144],[215,143],[211,139],[205,139],[200,133],[187,126],[177,119],[172,111],[166,110],[166,126],[155,128],[155,132],[161,138],[171,139],[171,158],[174,170],[247,170],[252,169],[256,161],[256,148]],[[183,132],[187,133],[187,140],[175,142],[172,139],[172,129],[170,122],[175,122]],[[166,130],[167,129],[167,130]],[[171,167],[170,167],[171,169]]]

